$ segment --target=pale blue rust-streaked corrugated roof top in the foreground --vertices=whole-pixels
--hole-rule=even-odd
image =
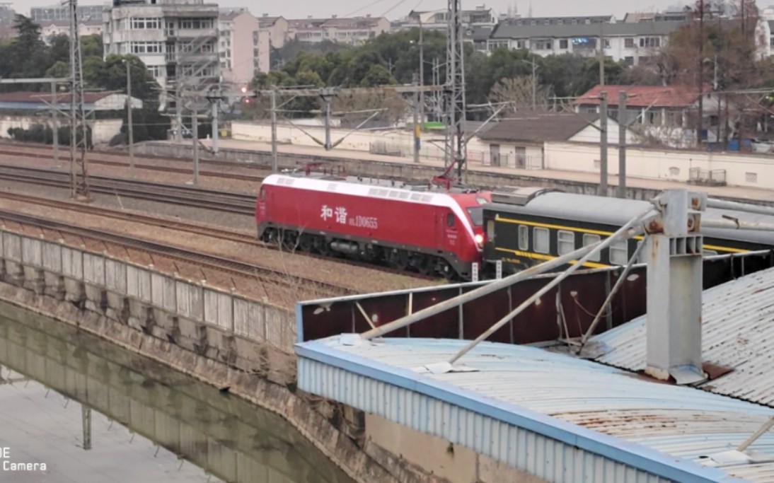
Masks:
[[[345,346],[339,340],[329,337],[300,345],[334,349],[375,377],[384,365],[416,371],[447,361],[467,343],[388,338]],[[529,409],[697,464],[732,450],[774,415],[774,410],[750,402],[650,382],[618,368],[539,348],[484,342],[459,362],[476,372],[425,372],[415,377],[440,383],[461,397],[480,395],[499,408]],[[774,434],[765,434],[749,451],[765,454],[770,461],[711,465],[733,478],[774,481]]]

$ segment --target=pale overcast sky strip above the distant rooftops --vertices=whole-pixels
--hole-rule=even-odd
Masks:
[[[30,7],[59,5],[58,0],[0,0],[11,3],[13,9],[24,15],[29,15]],[[286,19],[303,19],[308,15],[315,17],[330,17],[336,14],[340,17],[348,15],[384,15],[388,19],[399,19],[413,9],[432,10],[444,9],[446,0],[205,0],[216,1],[223,7],[247,7],[253,15],[283,15]],[[81,5],[99,5],[104,0],[79,0]],[[626,12],[663,11],[670,5],[681,5],[688,2],[676,0],[516,0],[515,5],[522,14],[527,16],[532,5],[533,16],[557,15],[615,15],[622,19]],[[513,0],[462,0],[463,9],[474,9],[476,5],[487,5],[495,12],[507,12]]]

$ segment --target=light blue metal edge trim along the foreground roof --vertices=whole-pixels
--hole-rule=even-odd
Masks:
[[[587,430],[584,427],[515,404],[495,401],[481,396],[478,392],[426,379],[421,377],[421,374],[408,369],[395,368],[382,362],[337,351],[335,348],[327,347],[322,341],[296,344],[296,355],[403,389],[421,392],[434,399],[522,427],[672,481],[680,481],[681,483],[741,483],[746,481],[734,478],[718,468],[704,467],[693,461],[670,457],[642,444],[631,443],[622,438]]]

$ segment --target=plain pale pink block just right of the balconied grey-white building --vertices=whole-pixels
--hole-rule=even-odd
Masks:
[[[269,32],[248,9],[221,9],[217,20],[223,80],[247,84],[256,71],[268,71]]]

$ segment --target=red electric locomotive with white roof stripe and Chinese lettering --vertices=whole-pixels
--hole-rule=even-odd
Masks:
[[[324,255],[470,279],[481,265],[488,192],[435,191],[359,178],[273,174],[255,209],[258,238]]]

